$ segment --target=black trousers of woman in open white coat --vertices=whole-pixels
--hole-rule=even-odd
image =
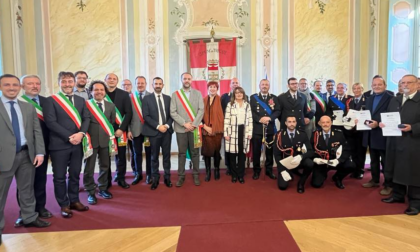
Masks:
[[[233,178],[243,178],[245,175],[244,130],[244,125],[238,126],[238,153],[229,153],[230,171]]]

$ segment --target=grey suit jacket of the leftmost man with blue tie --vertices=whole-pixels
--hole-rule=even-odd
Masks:
[[[39,124],[35,108],[31,104],[22,101],[18,101],[18,104],[22,111],[29,157],[33,161],[35,155],[45,155],[41,125]],[[7,172],[12,169],[15,160],[16,138],[13,133],[12,122],[2,102],[0,102],[0,132],[2,134],[0,141],[0,172]]]

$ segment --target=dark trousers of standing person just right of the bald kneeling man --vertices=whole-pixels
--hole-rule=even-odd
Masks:
[[[363,132],[352,132],[351,135],[346,135],[346,140],[350,147],[351,157],[356,166],[355,172],[363,174],[365,171],[366,151],[363,147]]]

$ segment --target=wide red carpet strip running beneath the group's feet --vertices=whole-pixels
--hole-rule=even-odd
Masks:
[[[75,212],[72,219],[60,216],[49,176],[47,208],[55,217],[50,219],[53,225],[46,229],[13,227],[19,213],[13,183],[5,209],[4,234],[401,214],[406,209],[405,204],[382,203],[378,188],[362,188],[368,176],[363,180],[347,178],[346,189],[340,190],[330,174],[324,188],[315,189],[307,183],[306,192],[301,195],[296,192],[296,181],[287,191],[280,191],[276,181],[269,178],[254,181],[252,170],[247,173],[243,185],[232,184],[224,172],[221,180],[202,181],[199,187],[193,185],[191,174],[187,174],[181,188],[167,188],[163,179],[156,191],[151,191],[144,182],[128,190],[114,185],[111,188],[114,199],[98,197],[98,205],[90,206],[88,212]],[[203,175],[201,179],[204,180]],[[132,177],[127,179],[131,180]],[[174,173],[172,181],[176,180]],[[80,198],[86,204],[86,192],[80,193]]]

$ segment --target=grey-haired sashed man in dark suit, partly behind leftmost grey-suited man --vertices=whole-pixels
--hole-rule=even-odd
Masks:
[[[20,97],[21,101],[31,104],[37,113],[39,123],[42,129],[42,136],[44,138],[45,156],[44,162],[35,169],[35,181],[34,181],[34,193],[36,199],[35,211],[38,212],[40,218],[48,219],[52,217],[52,213],[45,208],[47,202],[47,168],[48,168],[48,143],[49,143],[49,131],[44,122],[44,114],[42,113],[42,106],[45,103],[44,96],[41,96],[41,79],[37,75],[25,75],[21,78],[22,88],[24,95]],[[19,191],[17,191],[17,196]],[[19,197],[18,197],[19,203]],[[19,215],[19,218],[15,222],[15,227],[23,226],[23,220]]]

